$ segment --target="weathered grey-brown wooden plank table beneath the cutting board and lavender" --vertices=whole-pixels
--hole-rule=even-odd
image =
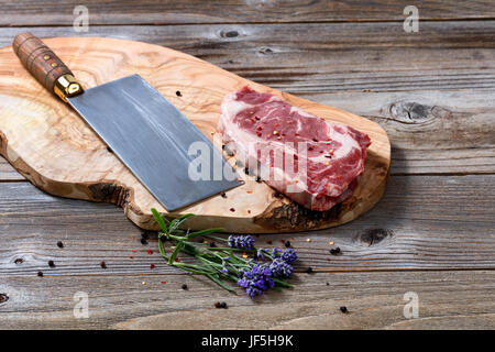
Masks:
[[[417,33],[403,28],[409,0],[87,0],[80,33],[79,1],[63,2],[0,0],[1,46],[29,30],[183,51],[378,122],[392,175],[383,200],[349,224],[261,235],[290,240],[300,261],[295,289],[251,301],[168,267],[121,209],[46,195],[0,160],[0,328],[495,328],[493,1],[418,1]],[[74,316],[78,292],[89,318]]]

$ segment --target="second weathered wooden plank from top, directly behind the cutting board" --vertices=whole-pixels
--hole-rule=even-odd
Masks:
[[[290,92],[495,87],[495,21],[95,26],[0,30],[0,45],[32,31],[112,36],[168,46]]]

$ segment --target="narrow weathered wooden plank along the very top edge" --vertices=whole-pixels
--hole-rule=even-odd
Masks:
[[[1,0],[0,25],[73,25],[78,0]],[[132,1],[87,0],[89,22],[106,24],[232,23],[232,22],[333,22],[404,21],[404,8],[410,1]],[[493,19],[490,0],[416,3],[421,20]]]

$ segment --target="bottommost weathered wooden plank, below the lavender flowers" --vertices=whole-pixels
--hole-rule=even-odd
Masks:
[[[493,271],[298,274],[293,284],[251,301],[240,289],[229,294],[189,275],[7,276],[0,282],[9,297],[0,304],[0,328],[495,328]],[[88,294],[88,319],[74,317],[78,292]],[[417,319],[404,317],[406,293],[418,295]],[[229,309],[213,308],[216,301]]]

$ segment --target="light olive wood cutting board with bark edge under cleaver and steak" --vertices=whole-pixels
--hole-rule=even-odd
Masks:
[[[359,187],[351,198],[329,211],[309,211],[239,169],[246,180],[243,186],[223,197],[219,195],[180,212],[167,213],[84,120],[31,76],[12,47],[3,47],[0,50],[0,154],[48,194],[116,204],[143,229],[157,229],[150,210],[154,207],[170,218],[195,213],[188,220],[195,229],[223,227],[231,232],[270,233],[345,223],[371,209],[385,190],[391,144],[375,122],[255,84],[157,45],[103,37],[43,41],[86,88],[141,75],[218,147],[221,141],[216,127],[221,101],[227,94],[246,85],[275,94],[318,117],[349,124],[367,133],[372,141]],[[129,143],[133,142],[130,135]],[[234,164],[234,157],[230,162]]]

